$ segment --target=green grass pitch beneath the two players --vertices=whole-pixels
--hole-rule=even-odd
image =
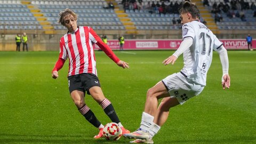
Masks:
[[[130,69],[95,52],[103,93],[127,129],[139,127],[147,90],[183,67],[182,57],[173,66],[162,64],[173,52],[115,51]],[[222,90],[221,63],[214,52],[204,91],[170,109],[155,143],[256,143],[256,51],[228,54],[230,89]],[[124,138],[93,139],[98,130],[79,114],[69,95],[68,61],[59,78],[51,78],[58,55],[0,52],[0,143],[129,143]],[[85,101],[103,124],[110,122],[90,95]]]

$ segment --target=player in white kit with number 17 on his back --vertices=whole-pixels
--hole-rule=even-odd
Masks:
[[[199,10],[194,3],[185,2],[180,9],[182,43],[177,51],[163,61],[172,65],[183,53],[184,67],[179,73],[167,76],[147,92],[145,110],[137,131],[124,134],[135,139],[131,143],[154,143],[152,138],[167,120],[171,107],[182,105],[201,93],[206,85],[206,75],[212,62],[212,52],[217,51],[222,65],[222,87],[229,89],[228,54],[219,39],[199,22]],[[158,99],[163,98],[158,106]]]

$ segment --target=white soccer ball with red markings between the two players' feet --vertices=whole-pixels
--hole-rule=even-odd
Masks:
[[[108,123],[104,126],[103,137],[107,140],[118,140],[122,136],[122,129],[117,123]]]

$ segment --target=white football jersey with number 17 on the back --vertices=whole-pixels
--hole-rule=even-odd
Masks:
[[[222,43],[203,23],[191,21],[182,26],[182,38],[193,38],[193,44],[183,52],[181,72],[196,84],[206,85],[206,74],[212,62],[212,52],[219,51]]]

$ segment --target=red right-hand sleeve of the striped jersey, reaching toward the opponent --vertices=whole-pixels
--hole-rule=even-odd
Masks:
[[[115,63],[120,61],[120,59],[115,55],[115,53],[110,49],[110,47],[102,42],[101,38],[95,33],[95,31],[92,28],[90,28],[89,30],[89,35],[91,41],[97,44],[100,47],[100,49],[103,52],[105,52],[111,60],[113,60]]]

